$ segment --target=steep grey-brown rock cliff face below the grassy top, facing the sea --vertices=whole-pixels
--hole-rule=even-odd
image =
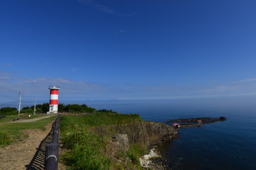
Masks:
[[[99,136],[118,133],[127,134],[129,143],[144,143],[151,145],[160,142],[161,139],[175,136],[177,130],[174,127],[157,122],[130,122],[126,124],[117,124],[109,126],[98,126],[93,130]]]

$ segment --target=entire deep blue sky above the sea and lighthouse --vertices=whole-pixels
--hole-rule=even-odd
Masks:
[[[4,0],[0,85],[45,102],[57,78],[60,101],[256,95],[255,9],[253,0]]]

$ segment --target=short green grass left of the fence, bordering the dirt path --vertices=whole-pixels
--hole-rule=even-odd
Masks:
[[[15,141],[22,141],[24,137],[23,133],[20,130],[23,129],[41,129],[45,130],[45,126],[56,119],[57,116],[52,116],[46,119],[41,119],[34,122],[1,122],[0,123],[0,147],[8,145]],[[7,116],[4,119],[10,119],[11,117]]]

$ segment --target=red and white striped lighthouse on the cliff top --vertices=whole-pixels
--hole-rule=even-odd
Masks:
[[[49,85],[50,90],[50,104],[49,104],[49,112],[51,113],[58,113],[58,90],[60,90],[60,86],[58,85]]]

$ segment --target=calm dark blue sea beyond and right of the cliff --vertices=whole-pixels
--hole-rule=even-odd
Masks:
[[[160,144],[169,169],[256,170],[256,97],[86,102],[96,109],[139,113],[144,120],[220,117],[227,121],[180,129]]]

